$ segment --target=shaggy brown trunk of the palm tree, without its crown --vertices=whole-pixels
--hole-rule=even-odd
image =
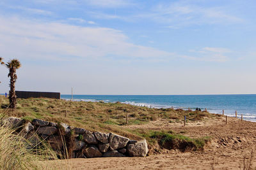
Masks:
[[[10,108],[15,108],[17,104],[17,96],[15,95],[15,81],[16,73],[15,69],[10,69],[10,91],[9,91],[9,101]]]

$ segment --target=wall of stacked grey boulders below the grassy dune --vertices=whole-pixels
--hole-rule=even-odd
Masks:
[[[135,141],[113,133],[91,132],[40,119],[26,122],[10,117],[6,120],[33,145],[46,141],[62,158],[145,157],[148,153],[146,140]]]

